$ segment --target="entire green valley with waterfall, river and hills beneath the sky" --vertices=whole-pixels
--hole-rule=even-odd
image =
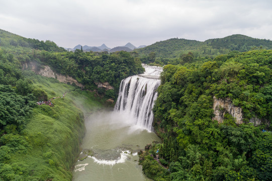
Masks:
[[[0,40],[0,180],[270,180],[270,40]]]

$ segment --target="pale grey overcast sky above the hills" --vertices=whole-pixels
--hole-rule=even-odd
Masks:
[[[272,1],[0,0],[0,29],[65,48],[233,34],[272,40]]]

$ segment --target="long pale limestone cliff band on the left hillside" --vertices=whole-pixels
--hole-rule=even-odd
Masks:
[[[69,82],[70,84],[75,83],[77,86],[83,87],[83,85],[81,83],[78,83],[76,79],[68,75],[62,75],[60,73],[56,73],[47,65],[41,66],[41,68],[39,69],[35,62],[29,62],[29,63],[23,64],[23,69],[31,69],[32,71],[34,71],[35,73],[39,75],[42,75],[45,77],[53,77],[58,79],[58,81],[60,82],[64,82],[64,83]]]

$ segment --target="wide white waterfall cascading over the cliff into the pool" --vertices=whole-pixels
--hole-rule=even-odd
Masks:
[[[152,130],[154,101],[160,84],[161,67],[143,65],[143,74],[133,75],[121,81],[115,111],[126,114],[131,124]]]

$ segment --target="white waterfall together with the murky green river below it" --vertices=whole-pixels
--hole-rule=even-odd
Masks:
[[[73,181],[150,180],[138,164],[137,152],[160,138],[152,132],[152,107],[157,98],[161,68],[122,80],[114,111],[94,113],[85,119],[82,161],[75,163]]]

